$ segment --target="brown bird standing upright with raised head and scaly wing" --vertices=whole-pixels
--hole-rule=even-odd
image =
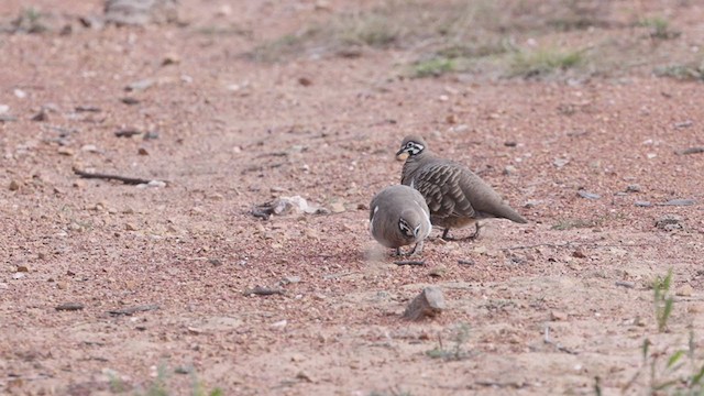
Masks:
[[[431,223],[444,228],[443,240],[453,240],[448,234],[451,228],[464,228],[472,223],[475,224],[475,232],[469,239],[476,239],[480,234],[479,220],[483,219],[528,222],[469,167],[439,157],[428,148],[421,136],[404,138],[396,156],[404,153],[408,156],[400,183],[417,189],[425,197]]]

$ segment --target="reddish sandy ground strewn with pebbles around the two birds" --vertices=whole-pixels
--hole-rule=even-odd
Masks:
[[[704,145],[701,82],[408,79],[395,50],[241,56],[343,7],[193,0],[185,26],[0,35],[0,105],[16,118],[0,122],[0,393],[141,394],[161,367],[178,395],[194,377],[226,395],[591,395],[595,377],[620,394],[646,338],[662,355],[689,327],[704,343],[704,154],[676,154]],[[198,33],[211,20],[243,33]],[[130,129],[142,134],[116,136]],[[529,224],[487,221],[475,242],[435,231],[425,266],[395,265],[367,206],[398,183],[408,133]],[[251,216],[280,196],[333,211]],[[672,199],[694,205],[658,205]],[[667,215],[681,228],[656,227]],[[668,268],[679,296],[658,333],[650,286]],[[447,311],[403,320],[427,285]],[[284,294],[244,294],[256,286]],[[56,309],[68,302],[82,309]],[[110,314],[144,306],[157,309]]]

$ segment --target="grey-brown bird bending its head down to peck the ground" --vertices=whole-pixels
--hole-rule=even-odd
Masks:
[[[396,255],[422,253],[422,242],[431,230],[430,209],[418,190],[392,185],[372,198],[370,232],[382,245],[396,249]],[[413,243],[416,244],[413,251],[402,253],[402,246]]]

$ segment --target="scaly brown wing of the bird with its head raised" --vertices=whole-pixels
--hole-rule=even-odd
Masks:
[[[428,164],[413,178],[430,212],[440,218],[473,217],[474,208],[462,190],[462,168],[452,163]]]

